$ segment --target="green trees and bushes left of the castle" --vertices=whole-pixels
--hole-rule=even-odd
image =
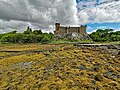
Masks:
[[[32,30],[29,27],[23,33],[12,31],[0,34],[1,43],[50,43],[52,38],[52,33],[43,33],[41,30]]]

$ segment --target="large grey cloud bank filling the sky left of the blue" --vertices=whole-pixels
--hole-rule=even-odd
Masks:
[[[0,33],[28,25],[52,31],[57,21],[78,24],[75,0],[0,0]]]

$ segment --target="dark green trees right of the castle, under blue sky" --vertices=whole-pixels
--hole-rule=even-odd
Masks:
[[[90,37],[95,42],[113,42],[120,41],[120,31],[113,32],[113,29],[98,29],[90,34]]]

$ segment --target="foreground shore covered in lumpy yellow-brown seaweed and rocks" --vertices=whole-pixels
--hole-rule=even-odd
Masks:
[[[22,62],[1,59],[0,90],[120,90],[120,56],[106,52],[64,45],[21,56]]]

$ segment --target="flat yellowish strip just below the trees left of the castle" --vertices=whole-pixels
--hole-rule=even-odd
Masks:
[[[55,45],[44,44],[0,44],[0,51],[47,50]]]

